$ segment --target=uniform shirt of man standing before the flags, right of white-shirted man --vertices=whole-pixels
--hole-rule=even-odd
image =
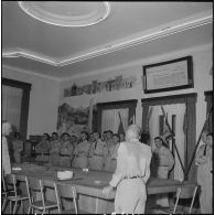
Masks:
[[[157,148],[154,150],[157,165],[158,166],[168,166],[171,170],[174,165],[174,159],[171,151],[166,148],[161,146],[161,148]]]

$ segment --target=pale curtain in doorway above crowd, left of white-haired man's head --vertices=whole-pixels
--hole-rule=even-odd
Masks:
[[[101,133],[105,130],[111,130],[114,133],[118,132],[120,123],[119,114],[121,116],[123,130],[126,131],[128,127],[129,108],[107,109],[101,112]]]

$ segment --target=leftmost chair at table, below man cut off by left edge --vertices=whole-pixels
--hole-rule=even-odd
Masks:
[[[12,189],[9,189],[11,186]],[[3,200],[3,205],[2,205],[2,212],[6,209],[8,201],[10,202],[10,214],[12,214],[12,203],[14,202],[14,207],[13,207],[13,214],[15,214],[18,209],[18,202],[21,203],[22,207],[22,213],[23,213],[23,204],[22,201],[29,200],[28,196],[22,195],[22,192],[18,190],[17,187],[17,179],[14,174],[7,174],[3,180],[3,194],[4,194],[4,200]]]

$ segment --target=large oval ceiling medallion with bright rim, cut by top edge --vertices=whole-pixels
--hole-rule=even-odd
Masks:
[[[93,25],[110,12],[110,4],[103,1],[19,1],[19,6],[36,20],[60,26]]]

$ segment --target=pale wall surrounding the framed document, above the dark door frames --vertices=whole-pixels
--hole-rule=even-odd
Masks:
[[[165,93],[155,93],[155,94],[143,94],[142,90],[142,66],[148,64],[154,64],[163,61],[170,61],[183,56],[192,55],[193,56],[193,71],[194,71],[194,88],[172,90]],[[60,105],[63,103],[73,104],[74,107],[88,106],[89,99],[94,98],[94,103],[106,103],[106,101],[116,101],[116,100],[126,100],[126,99],[138,99],[137,110],[136,110],[136,122],[141,126],[142,121],[142,107],[141,99],[149,97],[160,97],[168,95],[179,95],[179,94],[190,94],[197,93],[197,103],[196,103],[196,139],[201,132],[202,126],[206,116],[206,104],[204,101],[204,92],[213,90],[213,75],[211,73],[212,67],[212,44],[204,46],[196,46],[190,50],[182,50],[174,53],[168,53],[160,56],[154,56],[153,58],[142,60],[138,62],[132,62],[127,65],[120,65],[115,68],[108,68],[104,71],[95,71],[93,75],[88,75],[82,78],[75,78],[71,80],[64,80],[61,83],[61,95],[60,95]],[[76,83],[82,86],[85,84],[90,84],[93,80],[98,79],[98,82],[106,82],[109,78],[115,78],[117,75],[122,75],[123,77],[129,77],[131,75],[137,77],[137,83],[133,88],[121,89],[115,92],[104,92],[100,94],[94,95],[82,95],[63,98],[63,90]]]

